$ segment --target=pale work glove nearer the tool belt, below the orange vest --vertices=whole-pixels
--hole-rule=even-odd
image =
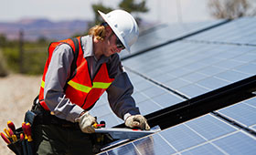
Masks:
[[[95,129],[92,127],[96,123],[96,119],[90,115],[88,111],[83,113],[80,118],[75,120],[80,124],[80,130],[85,133],[93,133]]]

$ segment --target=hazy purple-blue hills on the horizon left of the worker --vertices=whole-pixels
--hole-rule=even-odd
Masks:
[[[59,40],[85,33],[89,22],[87,20],[51,22],[48,19],[27,18],[12,23],[0,22],[0,34],[5,35],[9,40],[15,40],[19,31],[23,30],[24,39],[27,41],[35,41],[39,38]]]

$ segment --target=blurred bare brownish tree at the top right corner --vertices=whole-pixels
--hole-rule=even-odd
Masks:
[[[210,14],[215,18],[235,19],[241,16],[256,15],[250,0],[209,0]]]

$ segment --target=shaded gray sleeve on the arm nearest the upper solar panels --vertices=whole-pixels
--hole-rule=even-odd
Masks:
[[[123,71],[118,55],[111,57],[110,77],[115,78],[112,85],[107,89],[108,100],[113,112],[121,119],[129,113],[131,115],[140,114],[132,97],[133,85]]]

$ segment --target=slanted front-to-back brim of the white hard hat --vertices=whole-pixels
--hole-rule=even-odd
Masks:
[[[112,31],[114,32],[114,34],[121,40],[121,42],[123,43],[123,46],[125,47],[124,50],[127,50],[130,53],[130,47],[126,44],[126,42],[123,39],[123,36],[121,36],[120,32],[117,30],[117,28],[112,24],[112,22],[108,19],[107,15],[105,15],[104,13],[102,13],[100,10],[98,10],[98,13],[101,15],[101,17],[103,18],[103,20],[105,22],[107,22],[107,24],[109,26],[111,26]]]

